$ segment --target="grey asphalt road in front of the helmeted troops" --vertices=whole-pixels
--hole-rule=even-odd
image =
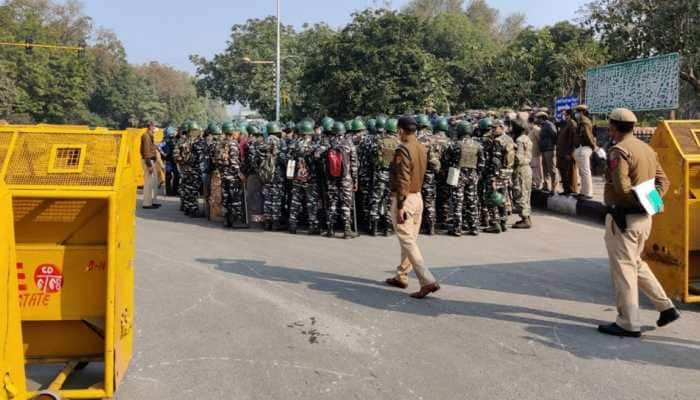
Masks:
[[[615,317],[599,226],[421,237],[443,289],[381,282],[396,238],[230,231],[139,209],[136,345],[118,399],[697,399],[700,308],[642,340]],[[418,288],[415,280],[409,290]]]

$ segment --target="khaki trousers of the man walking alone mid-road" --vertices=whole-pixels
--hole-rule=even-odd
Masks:
[[[423,219],[423,197],[420,193],[411,193],[406,197],[403,209],[407,218],[401,225],[396,221],[396,207],[396,196],[392,196],[391,219],[401,246],[401,264],[396,270],[396,279],[408,283],[408,274],[413,270],[421,287],[435,283],[435,277],[425,267],[425,261],[417,243]]]

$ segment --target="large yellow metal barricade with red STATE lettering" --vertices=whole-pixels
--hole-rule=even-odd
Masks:
[[[7,133],[25,363],[58,365],[41,384],[63,397],[112,397],[132,353],[139,157],[125,132],[0,126],[0,143]],[[64,387],[85,363],[102,379]]]

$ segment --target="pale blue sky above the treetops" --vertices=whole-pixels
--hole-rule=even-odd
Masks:
[[[522,12],[528,23],[544,26],[576,18],[589,0],[489,0],[501,15]],[[158,61],[194,73],[191,54],[210,58],[226,48],[231,26],[276,12],[275,0],[82,0],[96,27],[116,32],[129,61]],[[389,3],[400,8],[408,0]],[[382,4],[378,0],[281,0],[282,22],[326,22],[340,27],[354,11]],[[566,4],[566,7],[562,6]]]

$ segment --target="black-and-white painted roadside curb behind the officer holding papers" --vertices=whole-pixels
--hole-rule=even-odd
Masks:
[[[607,214],[605,205],[599,201],[580,200],[541,190],[532,191],[531,203],[532,207],[536,209],[566,214],[599,224],[605,223],[605,214]]]

